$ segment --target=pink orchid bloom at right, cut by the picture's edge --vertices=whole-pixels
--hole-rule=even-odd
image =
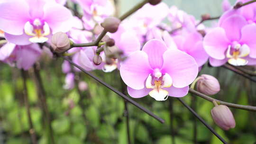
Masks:
[[[233,15],[204,37],[203,45],[210,55],[210,64],[226,62],[235,65],[256,64],[256,25],[247,25],[245,18]]]

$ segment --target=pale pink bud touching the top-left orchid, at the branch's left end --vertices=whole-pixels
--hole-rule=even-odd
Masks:
[[[57,53],[62,53],[70,48],[70,40],[63,32],[57,32],[52,36],[51,46]]]

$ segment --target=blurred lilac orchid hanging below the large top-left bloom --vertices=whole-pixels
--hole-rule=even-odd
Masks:
[[[37,44],[15,45],[7,43],[0,48],[0,61],[28,70],[40,58],[42,50]]]

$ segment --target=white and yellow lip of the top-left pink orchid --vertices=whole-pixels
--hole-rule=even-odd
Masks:
[[[24,31],[28,36],[33,36],[29,38],[30,42],[44,43],[48,40],[48,38],[45,36],[50,34],[50,27],[46,22],[44,22],[44,25],[42,26],[42,22],[36,18],[33,21],[33,25],[27,21],[24,26]]]

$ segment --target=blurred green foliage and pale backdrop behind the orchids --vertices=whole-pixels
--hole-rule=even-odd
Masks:
[[[119,0],[120,13],[132,8],[140,0]],[[163,0],[169,6],[200,19],[201,14],[219,16],[222,13],[222,0]],[[230,0],[233,4],[235,0]],[[210,25],[208,22],[206,25]],[[49,130],[42,112],[40,92],[37,90],[37,72],[45,89],[46,102],[51,117],[55,144],[128,144],[124,100],[114,92],[97,83],[83,73],[76,74],[76,82],[85,81],[84,90],[64,90],[65,75],[61,71],[62,59],[42,57],[35,69],[25,73],[27,94],[31,108],[31,118],[39,144],[48,142]],[[122,91],[119,72],[93,71],[111,86]],[[220,81],[221,91],[212,96],[223,101],[256,106],[255,84],[222,67],[210,68],[206,64],[201,74],[211,74]],[[0,63],[0,144],[30,144],[29,123],[27,119],[23,92],[25,85],[21,71]],[[44,92],[43,92],[44,93]],[[81,97],[82,96],[82,97]],[[182,98],[191,105],[192,97]],[[134,99],[139,104],[165,119],[161,124],[140,109],[128,104],[130,139],[132,144],[193,144],[192,114],[175,98],[155,101],[150,97]],[[171,107],[170,103],[173,103]],[[173,113],[170,114],[170,108]],[[236,127],[223,131],[213,123],[210,110],[213,104],[197,98],[197,112],[229,144],[256,144],[256,113],[231,108],[236,119]],[[170,119],[173,118],[171,129]],[[201,122],[197,122],[198,144],[221,144]]]

